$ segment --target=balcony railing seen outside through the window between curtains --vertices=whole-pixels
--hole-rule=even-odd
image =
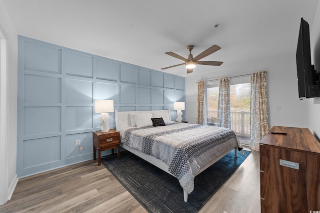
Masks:
[[[217,111],[207,112],[207,124],[216,125]],[[250,112],[230,112],[231,129],[236,135],[250,137]]]

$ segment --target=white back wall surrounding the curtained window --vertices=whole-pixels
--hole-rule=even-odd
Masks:
[[[227,63],[227,59],[224,62]],[[299,100],[298,98],[295,52],[290,55],[269,58],[232,69],[212,71],[212,73],[205,76],[186,77],[185,119],[189,123],[196,122],[197,85],[195,82],[197,80],[232,77],[261,70],[267,71],[269,126],[307,127],[307,100]],[[196,69],[194,69],[194,72],[196,72]],[[280,106],[281,110],[277,111],[276,106]]]

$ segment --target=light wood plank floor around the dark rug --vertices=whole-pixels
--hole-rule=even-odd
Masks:
[[[181,192],[182,193],[182,192]],[[97,161],[20,179],[0,213],[145,213]],[[252,151],[199,213],[259,213],[259,152]]]

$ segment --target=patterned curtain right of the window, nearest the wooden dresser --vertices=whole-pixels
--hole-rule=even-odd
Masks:
[[[269,131],[266,101],[266,71],[251,73],[249,146],[257,151],[261,139]]]

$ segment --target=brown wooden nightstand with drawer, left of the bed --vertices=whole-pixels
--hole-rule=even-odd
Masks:
[[[120,158],[120,135],[115,129],[108,132],[93,132],[93,160],[95,160],[95,150],[98,151],[98,166],[101,165],[101,151],[112,149],[112,155],[117,148],[117,158]]]

